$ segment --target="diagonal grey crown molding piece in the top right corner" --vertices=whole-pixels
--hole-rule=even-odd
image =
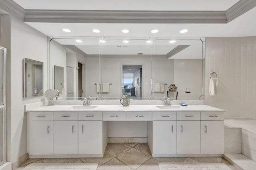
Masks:
[[[226,10],[226,19],[228,22],[230,22],[251,10],[255,6],[256,0],[240,0],[228,10]]]

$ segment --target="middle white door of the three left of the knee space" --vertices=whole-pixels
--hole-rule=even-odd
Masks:
[[[54,154],[78,154],[78,121],[54,121]]]

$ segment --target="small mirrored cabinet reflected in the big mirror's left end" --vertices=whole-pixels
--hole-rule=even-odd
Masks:
[[[58,90],[60,94],[65,94],[63,67],[54,66],[54,89]]]

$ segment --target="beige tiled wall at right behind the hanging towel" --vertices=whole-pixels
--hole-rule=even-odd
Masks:
[[[225,117],[256,118],[256,36],[206,38],[205,62],[205,104],[225,109]],[[218,75],[216,96],[210,71]]]

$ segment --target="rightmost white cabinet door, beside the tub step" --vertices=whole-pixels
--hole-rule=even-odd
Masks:
[[[201,121],[201,153],[224,153],[224,121]]]

